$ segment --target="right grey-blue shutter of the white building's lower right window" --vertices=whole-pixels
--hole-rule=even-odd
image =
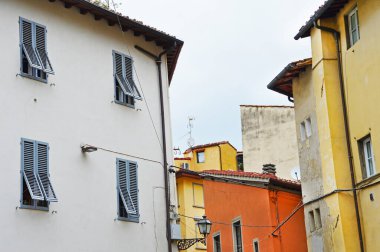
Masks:
[[[139,197],[138,197],[139,190],[138,190],[138,182],[137,182],[138,181],[137,180],[137,163],[128,161],[128,168],[129,168],[128,169],[128,177],[129,177],[128,188],[131,194],[132,203],[136,210],[135,213],[131,213],[128,216],[128,219],[138,222],[140,215],[139,215]]]

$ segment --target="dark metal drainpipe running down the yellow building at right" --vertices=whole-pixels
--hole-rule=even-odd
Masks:
[[[346,104],[346,94],[344,92],[344,83],[343,83],[343,72],[342,72],[342,61],[341,61],[341,49],[340,49],[340,33],[337,30],[334,30],[329,27],[319,26],[317,22],[314,22],[314,27],[321,30],[332,33],[335,39],[335,46],[337,50],[337,58],[338,58],[338,72],[339,72],[339,82],[340,82],[340,96],[342,99],[343,106],[343,118],[344,118],[344,130],[346,133],[346,144],[348,149],[348,161],[350,165],[350,175],[351,175],[351,184],[354,194],[354,204],[355,204],[355,215],[356,215],[356,224],[358,228],[359,234],[359,242],[360,242],[360,251],[364,252],[364,243],[363,243],[363,233],[361,229],[361,220],[359,213],[359,204],[358,204],[358,196],[356,194],[356,183],[355,183],[355,173],[354,173],[354,165],[352,162],[352,149],[351,149],[351,141],[350,141],[350,128],[348,127],[348,115],[347,115],[347,104]]]

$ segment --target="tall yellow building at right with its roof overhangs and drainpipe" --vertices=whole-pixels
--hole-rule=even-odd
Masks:
[[[312,58],[268,85],[294,99],[309,251],[380,248],[379,11],[326,1],[295,37],[310,36]]]

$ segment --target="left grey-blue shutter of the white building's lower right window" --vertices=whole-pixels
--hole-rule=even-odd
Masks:
[[[117,160],[117,168],[118,168],[118,190],[123,201],[124,207],[128,213],[136,214],[136,208],[133,204],[133,200],[131,198],[129,188],[128,188],[128,175],[127,175],[127,161]]]

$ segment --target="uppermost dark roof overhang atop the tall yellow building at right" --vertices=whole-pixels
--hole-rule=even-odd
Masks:
[[[348,3],[349,0],[327,0],[325,3],[319,7],[319,9],[314,12],[314,15],[310,17],[309,21],[306,22],[304,26],[301,27],[297,35],[294,37],[295,40],[299,38],[305,38],[310,36],[310,30],[320,18],[331,18],[335,17],[337,13]]]

